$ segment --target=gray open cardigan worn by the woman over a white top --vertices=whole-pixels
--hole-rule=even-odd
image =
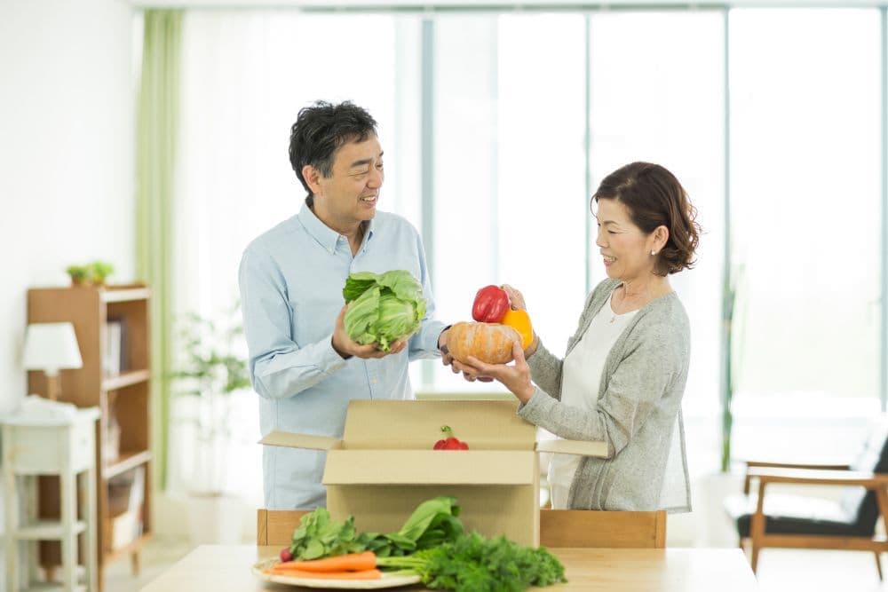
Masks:
[[[619,284],[604,280],[592,291],[567,353]],[[563,360],[540,343],[527,360],[536,391],[518,414],[561,438],[607,442],[607,458],[587,456],[580,463],[570,485],[569,508],[691,509],[681,416],[689,358],[690,325],[675,292],[639,309],[617,338],[607,354],[593,412],[560,402]],[[663,479],[676,425],[684,475],[671,477],[684,478],[684,491],[678,485],[679,501],[664,507]]]

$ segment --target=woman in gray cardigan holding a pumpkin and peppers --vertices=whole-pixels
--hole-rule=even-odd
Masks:
[[[607,458],[554,455],[553,508],[689,511],[690,328],[668,276],[694,264],[696,211],[669,170],[646,162],[608,175],[591,205],[608,279],[587,298],[565,359],[535,335],[527,351],[514,346],[511,366],[469,359],[455,371],[503,383],[521,417],[559,438],[607,443]],[[520,292],[503,288],[524,310]]]

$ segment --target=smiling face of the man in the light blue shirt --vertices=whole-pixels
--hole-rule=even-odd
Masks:
[[[315,213],[343,232],[376,216],[383,185],[383,150],[376,136],[347,142],[333,157],[329,178],[317,175],[313,187]]]

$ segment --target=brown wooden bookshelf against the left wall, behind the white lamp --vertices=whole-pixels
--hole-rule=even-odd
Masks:
[[[131,556],[133,572],[139,572],[139,550],[152,533],[150,296],[141,284],[28,290],[28,323],[70,321],[80,345],[83,367],[59,373],[59,400],[100,411],[99,589],[105,565],[116,557]],[[45,395],[43,372],[28,372],[28,392]],[[53,517],[57,500],[58,480],[41,478],[41,515]],[[60,564],[58,543],[42,542],[40,557],[52,573]]]

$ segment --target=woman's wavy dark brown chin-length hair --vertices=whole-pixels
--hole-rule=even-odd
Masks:
[[[654,262],[655,274],[666,276],[694,267],[701,232],[697,210],[669,170],[650,162],[627,164],[601,181],[592,195],[592,201],[599,200],[622,201],[643,233],[653,233],[657,226],[669,229],[669,240]]]

